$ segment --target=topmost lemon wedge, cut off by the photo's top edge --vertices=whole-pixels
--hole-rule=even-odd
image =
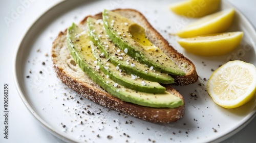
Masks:
[[[187,0],[169,6],[174,13],[186,17],[202,17],[217,11],[220,0]]]

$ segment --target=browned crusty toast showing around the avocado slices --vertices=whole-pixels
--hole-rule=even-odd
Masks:
[[[186,85],[194,83],[198,79],[195,65],[178,53],[169,43],[147,22],[146,18],[136,10],[117,9],[115,12],[134,20],[144,27],[146,36],[152,43],[159,46],[178,66],[185,71],[185,76],[173,76],[176,85]],[[101,19],[102,13],[95,16],[87,16],[79,26],[86,29],[86,21],[88,17]],[[87,76],[72,58],[66,40],[67,30],[60,32],[53,42],[52,61],[53,67],[57,73],[57,77],[68,87],[75,90],[81,96],[112,110],[138,117],[141,120],[153,123],[170,123],[178,121],[184,115],[184,105],[178,108],[152,108],[124,102],[97,85],[89,76]],[[182,65],[186,66],[182,66]],[[173,93],[181,98],[181,94],[171,85],[165,85],[166,91]]]

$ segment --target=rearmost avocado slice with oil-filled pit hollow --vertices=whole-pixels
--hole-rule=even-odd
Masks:
[[[108,10],[103,11],[102,17],[106,34],[127,55],[164,73],[185,75],[159,47],[147,39],[144,28],[137,23]]]

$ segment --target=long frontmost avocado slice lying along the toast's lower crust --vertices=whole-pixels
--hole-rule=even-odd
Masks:
[[[67,31],[68,49],[79,67],[91,79],[109,92],[112,96],[125,102],[155,108],[176,108],[183,105],[183,100],[165,91],[163,93],[146,93],[135,91],[117,84],[106,76],[93,56],[88,31],[74,23]]]

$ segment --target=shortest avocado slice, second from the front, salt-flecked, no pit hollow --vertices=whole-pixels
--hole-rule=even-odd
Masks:
[[[92,41],[90,41],[90,43],[93,55],[97,59],[96,62],[100,66],[101,71],[116,83],[141,92],[165,92],[165,87],[161,86],[157,82],[146,81],[134,75],[126,74],[118,65],[115,66],[109,61],[109,59],[106,59],[104,53],[101,53]]]

